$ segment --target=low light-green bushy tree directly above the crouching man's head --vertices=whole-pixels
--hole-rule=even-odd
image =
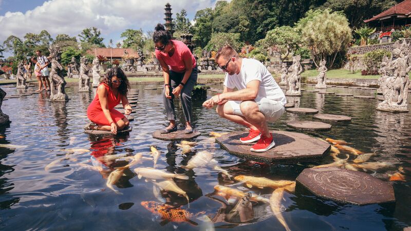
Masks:
[[[239,33],[213,33],[211,35],[211,40],[204,48],[206,50],[214,50],[217,51],[224,45],[230,45],[234,48],[237,52],[241,49],[243,44],[240,42],[240,34]]]

